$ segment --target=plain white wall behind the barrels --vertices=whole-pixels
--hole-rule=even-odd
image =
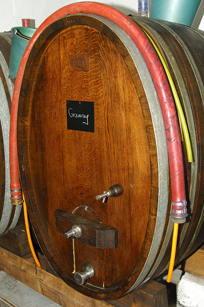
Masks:
[[[94,1],[94,0],[92,0]],[[165,1],[165,0],[164,0]],[[9,31],[14,26],[21,26],[21,18],[32,19],[32,26],[37,28],[49,15],[61,7],[79,2],[77,0],[2,0],[0,13],[0,32]],[[103,1],[98,0],[110,6],[114,6],[121,10],[126,15],[137,15],[137,0],[114,0]],[[187,0],[188,3],[188,0]],[[201,29],[204,31],[204,0],[198,10],[198,14],[193,23],[194,29]]]

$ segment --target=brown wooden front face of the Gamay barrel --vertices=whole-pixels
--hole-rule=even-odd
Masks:
[[[133,286],[148,256],[158,203],[156,143],[144,88],[121,40],[94,18],[76,16],[67,26],[69,18],[48,26],[26,65],[18,111],[21,180],[35,233],[57,274],[108,300]],[[88,54],[89,71],[67,69],[71,54]],[[94,133],[67,130],[67,100],[94,102]],[[123,186],[121,196],[95,199],[115,184]],[[79,206],[118,228],[116,249],[59,234],[55,210]],[[79,286],[73,273],[87,262],[95,276]]]

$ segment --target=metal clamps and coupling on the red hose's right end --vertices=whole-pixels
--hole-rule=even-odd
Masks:
[[[181,203],[171,203],[171,216],[174,223],[183,224],[186,222],[187,213],[187,201],[182,200]]]

